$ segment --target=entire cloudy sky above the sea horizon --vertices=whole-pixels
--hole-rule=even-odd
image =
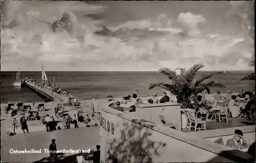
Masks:
[[[253,2],[8,1],[1,5],[1,69],[157,71],[160,67],[248,70]],[[67,30],[51,24],[66,12]],[[95,35],[102,26],[108,35]],[[252,27],[253,26],[253,27]]]

